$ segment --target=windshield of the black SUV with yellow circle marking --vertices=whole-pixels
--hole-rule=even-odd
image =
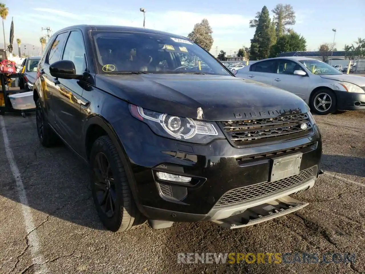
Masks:
[[[201,47],[186,39],[126,31],[91,31],[101,74],[123,72],[230,75]]]

